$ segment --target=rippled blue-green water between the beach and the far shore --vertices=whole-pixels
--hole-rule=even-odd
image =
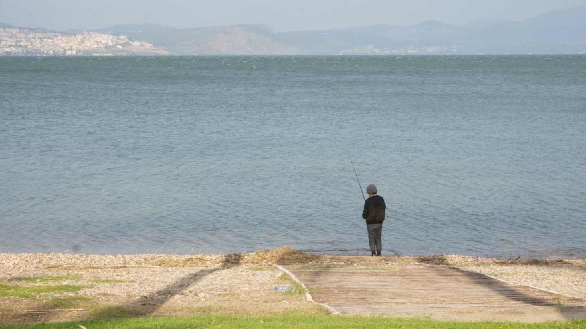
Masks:
[[[586,56],[0,57],[0,252],[586,257]]]

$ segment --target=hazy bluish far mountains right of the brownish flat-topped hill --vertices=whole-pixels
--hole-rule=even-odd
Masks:
[[[429,20],[413,26],[279,33],[283,42],[318,54],[584,53],[586,8],[557,10],[524,21]]]

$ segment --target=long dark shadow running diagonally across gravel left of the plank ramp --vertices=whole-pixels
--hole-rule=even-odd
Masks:
[[[218,268],[199,270],[195,273],[183,276],[179,280],[154,293],[143,296],[140,299],[118,306],[105,307],[91,314],[91,320],[105,320],[121,317],[144,317],[153,314],[159,307],[172,299],[177,294],[185,292],[188,287],[199,282],[204,277],[221,270],[230,269],[240,264],[241,255],[233,253],[226,255],[222,265]]]

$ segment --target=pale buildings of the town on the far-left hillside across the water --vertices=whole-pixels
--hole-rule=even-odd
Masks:
[[[164,55],[151,43],[106,33],[0,28],[0,56]]]

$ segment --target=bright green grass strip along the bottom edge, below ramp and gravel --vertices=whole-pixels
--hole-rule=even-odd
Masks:
[[[79,329],[81,324],[88,329],[182,329],[182,328],[226,328],[226,329],[583,329],[585,320],[567,322],[545,322],[537,324],[504,322],[444,322],[422,318],[350,317],[350,316],[275,316],[275,317],[191,317],[191,318],[123,318],[110,321],[79,321],[75,323],[38,324],[11,329]]]

